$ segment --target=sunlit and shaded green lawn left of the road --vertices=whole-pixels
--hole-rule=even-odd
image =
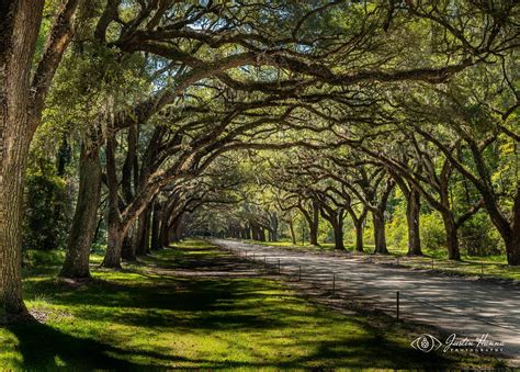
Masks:
[[[93,257],[94,262],[100,261]],[[341,315],[202,241],[70,285],[58,261],[26,268],[24,293],[44,323],[0,328],[2,369],[330,369],[472,367],[494,360],[425,354],[407,326]],[[224,272],[217,275],[212,270]],[[461,358],[461,356],[457,356]],[[499,362],[498,362],[499,363]],[[500,365],[500,364],[498,364]]]

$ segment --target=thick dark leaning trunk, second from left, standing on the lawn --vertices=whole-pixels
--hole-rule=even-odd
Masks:
[[[88,144],[89,139],[81,146],[78,202],[70,227],[67,255],[59,273],[63,278],[90,277],[89,256],[98,223],[102,170],[98,145]]]

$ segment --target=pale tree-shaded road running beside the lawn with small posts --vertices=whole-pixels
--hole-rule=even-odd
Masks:
[[[505,343],[502,353],[511,357],[515,364],[520,362],[518,286],[365,263],[359,257],[330,257],[237,240],[211,241],[238,255],[255,253],[257,259],[271,264],[278,266],[280,259],[284,272],[296,274],[302,267],[303,280],[328,286],[335,272],[338,292],[355,293],[389,314],[395,314],[396,291],[399,291],[403,318],[455,332],[456,339],[475,340],[488,335],[488,341]]]

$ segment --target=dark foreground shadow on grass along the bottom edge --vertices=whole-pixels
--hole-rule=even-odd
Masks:
[[[388,341],[384,337],[368,336],[330,341],[313,342],[307,340],[299,346],[316,347],[315,352],[306,356],[281,354],[276,361],[215,361],[205,358],[184,358],[171,354],[168,348],[158,348],[158,351],[125,350],[100,341],[75,337],[59,330],[36,323],[25,323],[8,328],[19,340],[19,351],[22,354],[20,369],[54,370],[58,368],[80,368],[81,370],[158,370],[189,363],[199,368],[228,369],[228,368],[366,368],[366,367],[409,367],[444,369],[451,361],[436,354],[423,354],[410,351],[408,348]],[[267,343],[272,340],[265,339]],[[377,354],[374,349],[380,350]],[[163,351],[163,352],[161,352]],[[155,360],[154,363],[134,363],[131,357],[145,357]],[[348,360],[348,362],[346,362]]]

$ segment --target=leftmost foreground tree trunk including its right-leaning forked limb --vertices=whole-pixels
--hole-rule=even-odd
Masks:
[[[0,315],[26,314],[21,278],[25,165],[78,3],[69,0],[59,11],[31,76],[44,1],[0,0]]]

